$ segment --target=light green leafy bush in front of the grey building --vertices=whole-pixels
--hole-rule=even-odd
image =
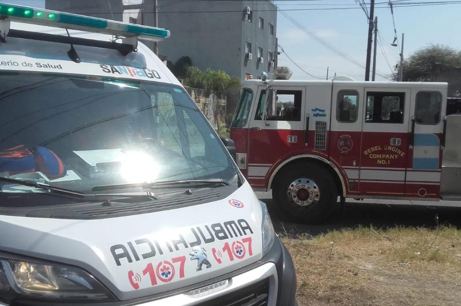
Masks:
[[[208,68],[201,71],[195,66],[187,70],[187,77],[183,80],[184,86],[193,88],[209,89],[225,93],[231,86],[242,87],[242,82],[236,77],[231,77],[222,70],[213,70]]]

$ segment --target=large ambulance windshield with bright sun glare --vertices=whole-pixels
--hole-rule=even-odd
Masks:
[[[216,179],[236,168],[183,88],[0,73],[0,177],[92,186]],[[33,188],[0,182],[2,192]]]

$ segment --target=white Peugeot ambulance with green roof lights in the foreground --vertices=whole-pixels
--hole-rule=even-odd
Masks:
[[[0,3],[0,306],[297,305],[266,205],[138,39]]]

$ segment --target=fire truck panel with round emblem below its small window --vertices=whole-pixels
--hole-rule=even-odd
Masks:
[[[348,194],[359,192],[363,87],[334,82],[331,107],[330,159],[347,176]]]

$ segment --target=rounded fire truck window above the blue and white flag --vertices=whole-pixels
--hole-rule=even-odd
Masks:
[[[416,94],[415,121],[418,124],[438,124],[442,94],[439,92],[420,91]]]

